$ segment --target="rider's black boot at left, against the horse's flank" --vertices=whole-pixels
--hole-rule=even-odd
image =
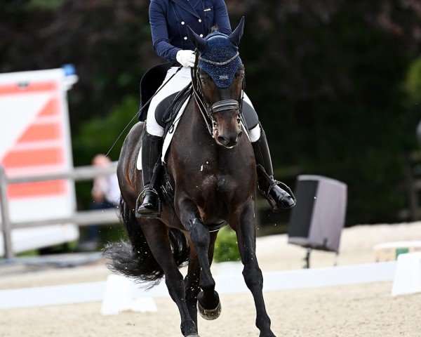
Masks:
[[[161,148],[162,137],[149,135],[145,131],[142,139],[142,177],[145,190],[139,196],[143,197],[143,202],[136,209],[136,218],[159,217],[159,194],[154,190],[151,180],[155,164],[161,155]]]

